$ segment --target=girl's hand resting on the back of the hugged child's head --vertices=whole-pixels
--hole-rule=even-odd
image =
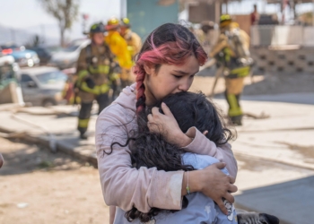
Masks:
[[[159,112],[159,108],[153,108],[152,114],[147,116],[150,131],[161,134],[167,142],[179,147],[187,146],[193,139],[182,133],[176,118],[165,103],[161,103],[161,108],[164,115]]]

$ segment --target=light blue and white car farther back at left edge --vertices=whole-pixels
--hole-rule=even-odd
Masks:
[[[13,56],[15,62],[22,66],[35,66],[39,65],[39,56],[33,50],[28,50],[24,46],[18,47],[16,45],[2,45],[0,50],[5,56]]]

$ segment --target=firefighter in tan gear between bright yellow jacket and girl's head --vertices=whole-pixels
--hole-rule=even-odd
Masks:
[[[120,21],[120,34],[126,39],[127,49],[132,58],[135,61],[135,56],[140,51],[142,47],[142,39],[131,30],[131,23],[129,19],[123,18]],[[121,71],[121,86],[124,88],[127,85],[135,82],[135,76],[132,75],[130,69],[122,68]]]

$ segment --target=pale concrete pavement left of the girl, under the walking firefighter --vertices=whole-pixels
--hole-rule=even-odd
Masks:
[[[19,113],[1,111],[0,106],[0,132],[19,133],[28,142],[43,144],[52,151],[63,151],[97,168],[94,147],[96,111],[97,108],[93,108],[87,140],[79,139],[77,108],[72,106],[22,108]]]

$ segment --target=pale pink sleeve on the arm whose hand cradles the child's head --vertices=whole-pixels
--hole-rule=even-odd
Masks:
[[[193,152],[201,155],[209,155],[222,162],[226,163],[231,177],[237,177],[238,165],[237,160],[234,158],[233,152],[231,151],[231,144],[225,143],[220,147],[205,137],[196,127],[191,127],[186,133],[188,137],[193,138],[193,141],[189,143],[183,149],[185,151]]]

